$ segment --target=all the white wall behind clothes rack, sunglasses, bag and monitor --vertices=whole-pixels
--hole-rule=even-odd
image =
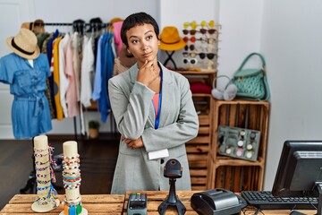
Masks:
[[[30,21],[41,18],[45,22],[75,19],[89,22],[100,17],[108,22],[114,17],[125,18],[130,13],[145,11],[156,17],[160,30],[166,25],[182,30],[183,22],[215,19],[222,25],[219,73],[233,75],[247,54],[263,53],[272,92],[265,189],[272,187],[285,140],[322,139],[322,115],[319,114],[322,109],[322,1],[29,1],[35,7]],[[6,19],[3,14],[0,18]],[[108,130],[109,124],[103,125],[103,129]],[[53,133],[72,132],[72,120],[54,122]]]

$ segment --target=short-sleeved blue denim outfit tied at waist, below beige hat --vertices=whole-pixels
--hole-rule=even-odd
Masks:
[[[13,94],[13,135],[31,138],[52,129],[45,90],[51,75],[46,55],[40,54],[33,67],[28,60],[12,53],[0,59],[0,82],[10,84]]]

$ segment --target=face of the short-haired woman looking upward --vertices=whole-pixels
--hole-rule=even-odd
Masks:
[[[151,24],[137,25],[126,32],[129,43],[127,48],[138,61],[139,68],[146,60],[157,64],[159,40]]]

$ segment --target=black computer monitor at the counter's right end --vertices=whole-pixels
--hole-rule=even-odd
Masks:
[[[319,197],[321,212],[322,141],[284,142],[272,193],[281,197]]]

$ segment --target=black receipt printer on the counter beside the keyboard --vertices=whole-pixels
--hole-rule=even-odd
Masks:
[[[240,214],[242,203],[235,193],[225,189],[214,189],[194,193],[191,196],[191,208],[199,215],[232,215]]]

